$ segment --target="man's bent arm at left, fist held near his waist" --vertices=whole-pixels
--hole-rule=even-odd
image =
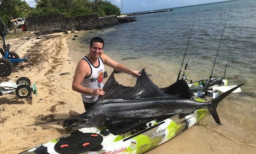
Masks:
[[[77,91],[84,94],[90,94],[90,95],[104,95],[105,92],[102,91],[102,88],[91,89],[81,85],[83,79],[89,73],[88,72],[88,70],[90,70],[89,67],[90,66],[85,60],[80,60],[80,62],[77,64],[74,78],[73,78],[73,83],[72,83],[73,91]]]

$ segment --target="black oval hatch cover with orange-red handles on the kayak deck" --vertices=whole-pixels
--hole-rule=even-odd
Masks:
[[[60,154],[78,154],[94,148],[98,149],[98,146],[102,148],[102,141],[102,136],[96,133],[73,134],[61,139],[54,149]]]

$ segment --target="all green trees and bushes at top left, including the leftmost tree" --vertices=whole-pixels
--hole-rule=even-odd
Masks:
[[[9,24],[13,18],[64,13],[78,16],[98,13],[100,17],[119,15],[120,10],[108,0],[35,0],[36,8],[29,8],[25,0],[0,0],[0,18]],[[0,27],[3,23],[0,21]]]

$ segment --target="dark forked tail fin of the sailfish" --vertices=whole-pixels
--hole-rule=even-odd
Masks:
[[[244,83],[243,83],[244,84]],[[219,102],[221,100],[223,100],[226,96],[228,96],[232,91],[235,91],[236,89],[238,89],[240,86],[242,86],[243,84],[240,84],[232,89],[230,89],[229,91],[226,91],[224,92],[223,94],[221,94],[219,97],[211,100],[211,107],[209,107],[208,109],[210,110],[210,114],[212,115],[212,117],[214,118],[215,122],[218,124],[218,125],[221,125],[220,123],[220,120],[219,120],[219,116],[218,116],[218,113],[216,111],[216,108],[219,104]]]

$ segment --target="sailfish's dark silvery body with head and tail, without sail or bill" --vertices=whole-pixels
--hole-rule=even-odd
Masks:
[[[83,114],[73,117],[79,122],[69,127],[99,127],[111,125],[114,121],[160,118],[175,114],[190,114],[197,109],[209,109],[215,122],[221,125],[216,108],[218,103],[241,85],[223,93],[207,103],[191,99],[158,97],[141,100],[102,100]]]

